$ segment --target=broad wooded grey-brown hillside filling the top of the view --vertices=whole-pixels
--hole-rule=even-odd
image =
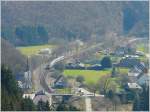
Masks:
[[[2,2],[2,36],[15,45],[108,32],[148,36],[148,2]]]

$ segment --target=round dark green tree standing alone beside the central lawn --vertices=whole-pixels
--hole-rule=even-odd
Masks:
[[[105,56],[102,60],[101,60],[101,65],[103,68],[111,68],[112,67],[112,62],[110,57]]]

